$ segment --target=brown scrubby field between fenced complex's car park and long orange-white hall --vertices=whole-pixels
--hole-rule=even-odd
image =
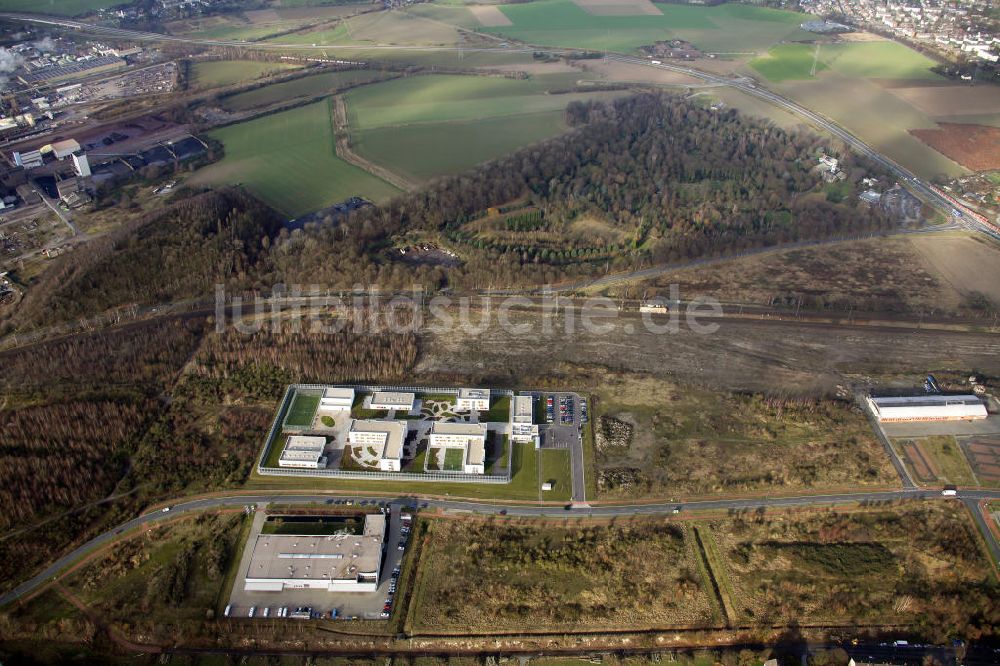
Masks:
[[[632,427],[596,447],[603,498],[895,487],[898,479],[861,410],[847,401],[784,399],[616,377],[593,411]]]

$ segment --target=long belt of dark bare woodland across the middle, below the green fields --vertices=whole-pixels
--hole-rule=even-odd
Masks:
[[[813,168],[829,147],[810,133],[652,93],[572,103],[566,118],[562,136],[304,229],[284,228],[238,188],[180,191],[165,209],[58,258],[0,326],[207,300],[216,285],[533,286],[894,224],[831,196]],[[852,180],[884,176],[840,157]],[[511,203],[528,212],[483,226],[487,211]],[[579,220],[607,233],[572,232]],[[428,241],[460,261],[406,262],[392,251]]]

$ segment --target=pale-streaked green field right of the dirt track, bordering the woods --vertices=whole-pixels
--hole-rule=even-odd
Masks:
[[[576,80],[572,72],[527,80],[431,75],[356,88],[345,95],[351,144],[417,182],[457,173],[563,132],[571,101],[623,94],[549,94]]]

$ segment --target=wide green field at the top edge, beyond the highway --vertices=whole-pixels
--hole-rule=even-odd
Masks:
[[[530,44],[631,52],[665,39],[686,39],[714,53],[762,52],[811,40],[799,27],[809,15],[743,4],[715,7],[657,4],[662,16],[595,16],[572,0],[502,5],[514,25],[482,28]]]

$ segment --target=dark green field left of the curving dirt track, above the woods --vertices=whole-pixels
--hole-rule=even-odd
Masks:
[[[209,136],[225,145],[226,156],[189,182],[240,183],[292,217],[352,196],[384,201],[397,191],[337,157],[328,101],[224,127]]]

